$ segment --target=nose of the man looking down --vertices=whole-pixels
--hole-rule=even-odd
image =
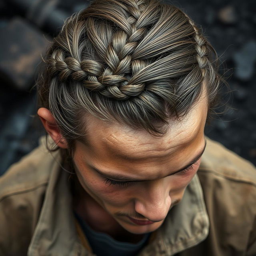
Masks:
[[[164,220],[172,204],[166,185],[163,180],[148,182],[135,199],[135,211],[153,222]]]

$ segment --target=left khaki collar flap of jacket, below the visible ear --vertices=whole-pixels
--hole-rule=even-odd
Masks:
[[[52,143],[52,140],[49,141]],[[40,142],[43,144],[44,155],[41,156],[43,160],[38,168],[50,174],[44,204],[28,248],[28,256],[92,255],[80,244],[76,232],[68,184],[69,173],[60,168],[60,152],[57,150],[45,155],[47,150],[43,138]]]

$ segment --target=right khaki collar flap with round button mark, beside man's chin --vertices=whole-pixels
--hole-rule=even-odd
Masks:
[[[140,256],[174,255],[184,251],[206,239],[209,225],[202,187],[196,174],[182,200],[170,210],[157,230],[155,240],[142,250]]]

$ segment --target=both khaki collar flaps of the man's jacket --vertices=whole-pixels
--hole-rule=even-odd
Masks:
[[[92,255],[80,243],[69,190],[69,173],[60,168],[59,152],[46,156],[38,168],[51,169],[44,204],[34,231],[28,256]],[[170,210],[155,239],[141,256],[173,255],[202,242],[209,232],[209,219],[197,174],[187,186],[182,200]]]

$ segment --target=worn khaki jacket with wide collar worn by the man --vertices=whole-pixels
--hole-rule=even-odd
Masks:
[[[92,256],[60,152],[40,146],[0,177],[0,256]],[[198,173],[139,256],[256,256],[256,168],[207,138]]]

